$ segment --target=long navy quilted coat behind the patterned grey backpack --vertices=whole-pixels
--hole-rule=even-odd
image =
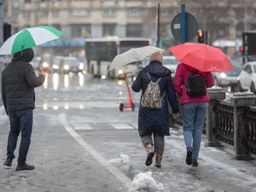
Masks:
[[[151,61],[147,67],[144,67],[138,73],[137,79],[131,85],[132,90],[135,92],[143,90],[143,93],[145,92],[150,82],[147,72],[154,82],[162,78],[159,83],[160,93],[163,96],[166,92],[166,95],[163,98],[162,108],[160,109],[140,107],[138,117],[139,134],[140,136],[144,136],[152,132],[157,132],[162,136],[170,136],[168,102],[172,107],[172,112],[178,113],[177,96],[172,84],[171,71],[164,67],[160,61]]]

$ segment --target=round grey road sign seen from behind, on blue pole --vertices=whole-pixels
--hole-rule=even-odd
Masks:
[[[182,20],[182,14],[180,13],[174,17],[174,19],[172,20],[172,24],[171,24],[172,35],[177,41],[182,40],[181,20]],[[186,40],[191,41],[197,35],[198,22],[195,19],[194,15],[186,13],[186,24],[187,24],[186,25],[187,26],[187,39]]]

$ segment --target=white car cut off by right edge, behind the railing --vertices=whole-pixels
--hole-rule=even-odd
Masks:
[[[251,90],[256,93],[256,61],[245,63],[238,77],[237,90]]]

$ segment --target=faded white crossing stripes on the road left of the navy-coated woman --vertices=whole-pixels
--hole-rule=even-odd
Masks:
[[[74,131],[108,131],[108,130],[137,130],[136,124],[129,123],[72,123]]]

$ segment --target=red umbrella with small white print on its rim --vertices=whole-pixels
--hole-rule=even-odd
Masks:
[[[221,49],[207,44],[179,44],[169,48],[177,61],[201,72],[228,72],[233,68]]]

